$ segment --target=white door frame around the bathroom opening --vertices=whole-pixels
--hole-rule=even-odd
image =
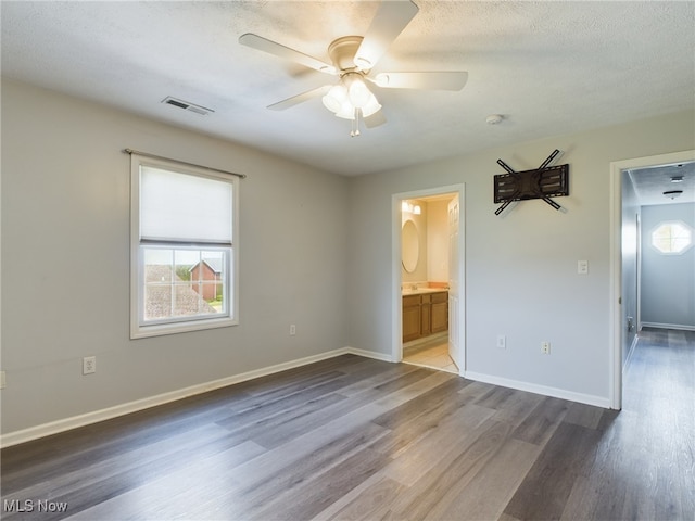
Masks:
[[[444,193],[458,193],[458,345],[460,346],[463,367],[466,371],[466,185],[448,185],[424,190],[400,192],[391,195],[391,359],[403,360],[403,296],[401,292],[401,201],[421,199]],[[450,266],[450,269],[452,267]]]

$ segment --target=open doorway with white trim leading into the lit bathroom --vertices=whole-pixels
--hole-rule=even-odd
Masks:
[[[462,376],[463,202],[463,185],[392,198],[392,359]]]

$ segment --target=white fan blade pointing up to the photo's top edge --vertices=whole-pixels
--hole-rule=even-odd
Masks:
[[[382,1],[355,54],[354,61],[357,68],[362,71],[374,68],[417,12],[418,7],[409,0]]]

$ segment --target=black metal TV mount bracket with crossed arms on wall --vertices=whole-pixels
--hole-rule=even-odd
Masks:
[[[498,174],[494,177],[495,203],[502,203],[495,215],[500,215],[514,201],[542,199],[555,209],[561,206],[551,198],[569,195],[569,165],[549,166],[558,156],[559,150],[555,150],[534,170],[514,171],[504,161],[497,160],[507,174]]]

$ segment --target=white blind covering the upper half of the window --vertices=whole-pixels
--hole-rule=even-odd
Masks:
[[[229,181],[140,166],[140,240],[232,244]]]

